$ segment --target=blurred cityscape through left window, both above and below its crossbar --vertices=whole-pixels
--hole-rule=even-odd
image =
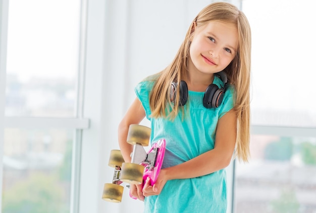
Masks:
[[[73,117],[75,81],[8,74],[6,116]],[[74,130],[5,129],[3,213],[70,212]]]

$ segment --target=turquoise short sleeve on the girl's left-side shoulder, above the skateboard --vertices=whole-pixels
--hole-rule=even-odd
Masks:
[[[137,98],[140,100],[144,110],[146,112],[146,118],[150,120],[151,110],[149,107],[149,94],[152,89],[152,81],[141,81],[135,87],[135,93]]]

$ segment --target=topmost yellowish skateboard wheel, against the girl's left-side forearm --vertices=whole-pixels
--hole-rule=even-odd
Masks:
[[[148,146],[150,139],[151,129],[147,126],[131,124],[129,126],[127,143],[131,145],[141,144]]]

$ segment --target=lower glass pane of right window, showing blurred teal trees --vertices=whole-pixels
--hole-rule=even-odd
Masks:
[[[236,212],[316,212],[316,138],[254,135],[236,167]]]

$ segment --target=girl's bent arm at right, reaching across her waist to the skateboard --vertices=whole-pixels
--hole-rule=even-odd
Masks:
[[[213,150],[184,163],[162,169],[153,187],[146,182],[143,189],[144,196],[160,194],[169,180],[196,178],[227,167],[234,153],[236,137],[237,116],[232,109],[221,117],[218,122]]]

